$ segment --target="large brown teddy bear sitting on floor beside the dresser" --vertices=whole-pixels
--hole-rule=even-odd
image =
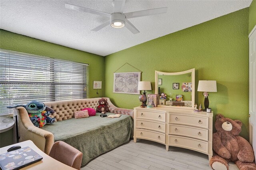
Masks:
[[[216,115],[216,133],[212,135],[214,155],[210,166],[214,170],[228,170],[228,162],[234,162],[240,170],[256,170],[254,152],[250,143],[238,136],[242,122]]]

